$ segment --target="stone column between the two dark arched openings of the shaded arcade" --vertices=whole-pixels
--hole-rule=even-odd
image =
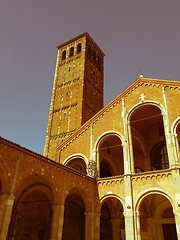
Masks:
[[[64,206],[53,206],[53,218],[51,226],[51,240],[61,240],[64,222]]]

